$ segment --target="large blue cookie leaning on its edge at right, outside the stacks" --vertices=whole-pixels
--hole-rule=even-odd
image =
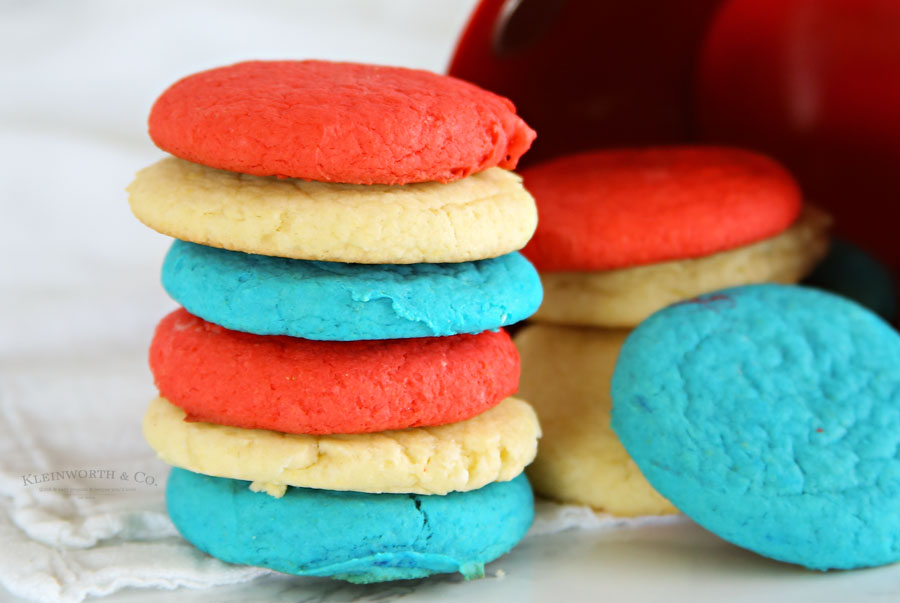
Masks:
[[[738,546],[814,569],[900,559],[900,338],[816,289],[756,285],[651,316],[612,380],[644,476]]]

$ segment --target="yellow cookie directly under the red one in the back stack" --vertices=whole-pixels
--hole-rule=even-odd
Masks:
[[[544,302],[532,320],[634,327],[675,302],[738,285],[792,284],[828,251],[831,218],[807,206],[769,239],[702,258],[598,272],[542,272]]]

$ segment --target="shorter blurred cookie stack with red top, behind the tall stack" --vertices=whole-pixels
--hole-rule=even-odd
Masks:
[[[535,490],[614,515],[676,512],[610,428],[610,379],[631,329],[702,293],[795,283],[828,247],[772,160],[717,147],[594,151],[523,172],[541,216],[523,253],[541,273],[536,324],[516,337],[519,393],[544,436]]]

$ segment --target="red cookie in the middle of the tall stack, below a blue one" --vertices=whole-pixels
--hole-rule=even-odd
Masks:
[[[519,355],[502,330],[311,341],[230,331],[184,309],[157,326],[150,370],[189,421],[310,434],[463,421],[519,385]]]

